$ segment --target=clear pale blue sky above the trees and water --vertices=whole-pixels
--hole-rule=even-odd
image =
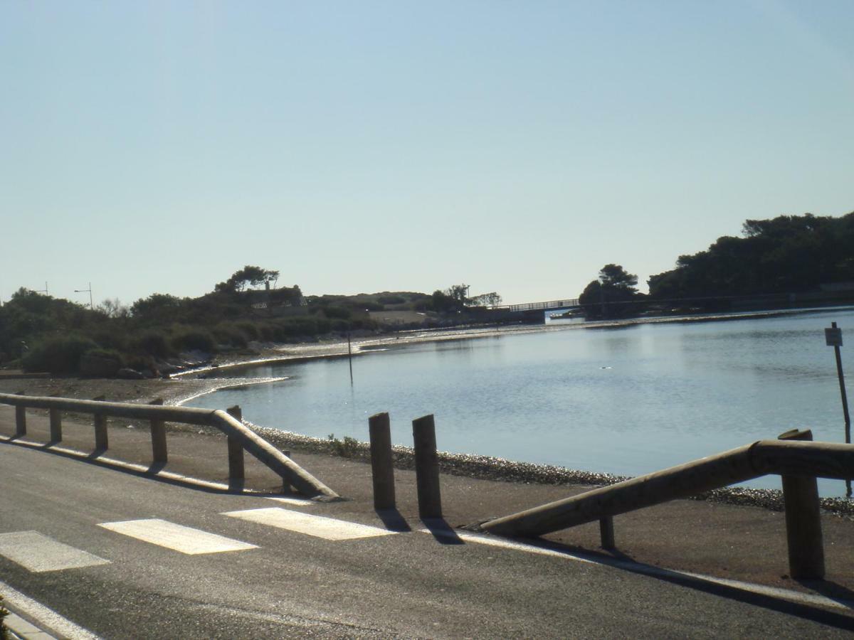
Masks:
[[[854,2],[0,1],[0,300],[575,297],[854,210]]]

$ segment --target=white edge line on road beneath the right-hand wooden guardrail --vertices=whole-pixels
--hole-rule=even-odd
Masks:
[[[704,573],[676,571],[676,569],[653,567],[652,565],[642,564],[640,562],[617,560],[611,558],[584,557],[572,553],[568,550],[564,551],[559,549],[552,549],[549,547],[538,546],[535,544],[513,542],[504,538],[493,538],[491,536],[483,534],[470,533],[458,530],[446,531],[439,529],[430,531],[430,529],[418,529],[418,532],[430,533],[430,535],[443,536],[445,538],[460,538],[465,542],[486,544],[488,546],[501,547],[503,549],[523,551],[524,553],[533,553],[539,556],[560,557],[564,560],[588,562],[589,564],[598,564],[603,567],[615,567],[618,569],[623,569],[625,571],[631,571],[633,573],[643,573],[644,575],[649,575],[654,578],[689,579],[697,582],[712,583],[715,585],[729,587],[731,589],[737,589],[739,591],[749,591],[751,593],[757,594],[758,596],[775,597],[780,598],[781,600],[787,600],[788,602],[798,602],[800,604],[807,604],[813,607],[818,606],[839,608],[845,609],[846,611],[854,610],[854,602],[852,602],[851,600],[845,600],[841,598],[834,599],[829,598],[828,596],[821,596],[819,594],[804,593],[803,591],[792,591],[790,589],[783,589],[781,587],[773,587],[768,585],[757,585],[752,582],[742,582],[741,580],[717,578],[715,576],[705,575]]]

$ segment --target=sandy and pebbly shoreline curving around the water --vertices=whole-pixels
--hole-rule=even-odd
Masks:
[[[851,307],[825,307],[809,310],[763,311],[747,314],[730,314],[727,317],[656,317],[632,318],[623,321],[602,323],[561,323],[559,325],[513,325],[512,327],[485,327],[463,329],[423,329],[407,331],[406,335],[380,335],[363,337],[352,341],[353,356],[363,356],[371,352],[386,351],[395,346],[419,343],[436,343],[448,340],[473,340],[478,338],[494,338],[502,335],[520,335],[541,333],[544,331],[563,331],[570,329],[620,329],[646,323],[686,323],[686,322],[718,322],[731,320],[747,320],[761,317],[781,315],[796,315],[800,313],[816,313],[838,309],[850,310]],[[85,378],[0,378],[0,389],[8,393],[24,393],[31,395],[62,395],[69,398],[88,398],[106,395],[108,399],[117,401],[149,402],[162,398],[165,404],[181,405],[192,399],[214,393],[221,389],[247,387],[256,384],[270,384],[285,381],[287,377],[267,378],[219,378],[212,374],[220,371],[237,371],[250,369],[267,364],[283,362],[309,362],[320,358],[347,358],[348,343],[334,341],[326,343],[302,343],[287,346],[259,345],[265,354],[261,358],[243,359],[237,361],[220,361],[219,363],[190,369],[169,379],[152,379],[144,381],[123,381],[108,379]],[[335,445],[340,442],[313,438],[300,433],[283,431],[278,428],[265,427],[247,422],[250,428],[270,440],[273,445],[281,448],[292,448],[302,451],[336,453]],[[175,428],[175,426],[171,426]],[[175,428],[185,430],[183,427]],[[193,428],[197,430],[197,428]],[[201,432],[200,432],[201,433]],[[347,455],[363,462],[370,459],[369,445],[364,442],[347,439]],[[525,463],[507,460],[499,457],[460,454],[447,451],[439,452],[439,462],[442,472],[465,475],[483,480],[501,480],[508,482],[523,482],[545,485],[583,485],[603,486],[615,484],[628,479],[629,476],[602,474],[593,471],[571,469],[548,464]],[[412,448],[395,445],[394,458],[396,468],[412,468]],[[707,500],[728,504],[756,506],[764,509],[782,510],[782,492],[769,489],[752,489],[733,486],[707,492],[692,499]],[[822,498],[822,509],[839,517],[854,521],[854,502],[844,497]]]

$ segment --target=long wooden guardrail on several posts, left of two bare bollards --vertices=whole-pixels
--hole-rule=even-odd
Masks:
[[[157,402],[157,401],[155,401]],[[160,401],[162,402],[162,401]],[[297,492],[316,500],[339,498],[323,482],[309,474],[260,435],[243,425],[239,409],[236,416],[223,410],[194,409],[192,407],[169,407],[159,404],[131,404],[103,402],[100,400],[74,400],[67,398],[45,398],[21,394],[0,393],[0,404],[15,406],[15,437],[26,435],[26,410],[46,409],[50,412],[50,439],[62,440],[62,411],[89,413],[93,416],[95,445],[98,451],[108,449],[108,416],[148,420],[151,425],[151,448],[155,463],[167,462],[166,422],[181,422],[213,427],[225,433],[228,440],[228,467],[231,478],[243,479],[243,451],[249,451],[260,462],[278,474],[285,486],[293,486]]]

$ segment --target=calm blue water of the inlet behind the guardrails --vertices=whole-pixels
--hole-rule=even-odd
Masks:
[[[433,413],[444,451],[637,475],[796,427],[844,441],[823,333],[834,320],[854,328],[854,311],[401,346],[354,358],[352,387],[346,359],[266,365],[235,375],[290,379],[189,404],[240,404],[256,424],[360,440],[368,416],[389,411],[395,444],[410,446],[412,419]],[[820,489],[842,495],[844,483]]]

